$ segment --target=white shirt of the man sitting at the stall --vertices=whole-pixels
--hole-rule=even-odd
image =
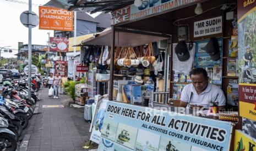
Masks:
[[[219,94],[217,96],[217,94]],[[209,107],[211,100],[217,96],[216,102],[219,102],[219,106],[226,105],[226,97],[224,92],[216,85],[208,83],[207,88],[198,94],[193,84],[188,84],[181,92],[181,101],[188,102],[191,96],[190,104],[197,104],[197,106]]]

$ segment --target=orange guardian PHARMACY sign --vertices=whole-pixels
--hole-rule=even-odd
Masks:
[[[73,11],[39,6],[39,29],[73,31]]]

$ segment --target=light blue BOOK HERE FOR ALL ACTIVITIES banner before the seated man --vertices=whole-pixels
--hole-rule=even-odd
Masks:
[[[229,150],[232,127],[226,121],[108,101],[100,150],[111,143],[121,150]]]

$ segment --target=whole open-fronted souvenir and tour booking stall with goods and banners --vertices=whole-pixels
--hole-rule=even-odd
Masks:
[[[113,11],[111,30],[81,42],[84,64],[94,62],[90,140],[99,150],[255,150],[255,6],[170,0]],[[198,67],[224,91],[225,109],[218,109],[218,95],[205,110],[178,107]]]

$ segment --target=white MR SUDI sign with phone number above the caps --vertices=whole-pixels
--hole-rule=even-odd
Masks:
[[[222,33],[222,16],[194,22],[194,37]]]

